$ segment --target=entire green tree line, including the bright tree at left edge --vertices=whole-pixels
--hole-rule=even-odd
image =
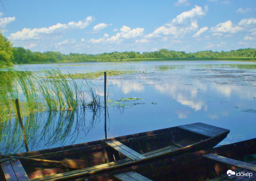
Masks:
[[[35,63],[56,63],[56,62],[83,62],[83,61],[122,61],[130,59],[148,59],[148,58],[162,58],[165,60],[177,60],[177,59],[212,59],[215,60],[221,57],[248,57],[253,60],[256,59],[256,49],[237,49],[231,51],[213,52],[211,50],[198,51],[194,53],[186,53],[185,51],[175,51],[168,49],[160,49],[153,52],[111,52],[101,54],[79,54],[69,53],[62,54],[57,51],[46,52],[33,52],[23,47],[12,47],[12,43],[3,36],[0,31],[0,67],[11,64],[35,64]]]

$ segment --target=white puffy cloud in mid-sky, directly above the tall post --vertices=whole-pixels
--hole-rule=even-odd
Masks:
[[[120,29],[120,33],[117,33],[116,36],[112,36],[108,38],[108,34],[104,34],[103,38],[100,39],[91,39],[90,42],[92,43],[118,43],[120,41],[123,41],[125,39],[133,39],[135,37],[143,35],[144,28],[134,28],[131,30],[128,26],[123,26]]]

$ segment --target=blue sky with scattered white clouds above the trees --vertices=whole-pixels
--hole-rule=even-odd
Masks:
[[[255,0],[4,0],[14,47],[64,54],[256,48]]]

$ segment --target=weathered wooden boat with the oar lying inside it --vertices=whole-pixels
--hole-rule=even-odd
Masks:
[[[169,156],[212,148],[226,138],[229,130],[194,123],[128,136],[92,141],[12,155],[19,159],[1,163],[2,174],[13,175],[16,168],[30,179],[61,180],[94,175],[106,169],[120,169],[164,159]],[[8,157],[3,156],[2,157]],[[5,161],[5,158],[2,161]],[[7,168],[7,169],[6,169]],[[10,174],[12,170],[12,174]],[[25,170],[25,171],[24,171]],[[50,175],[50,176],[49,176]],[[0,172],[1,177],[1,172]]]

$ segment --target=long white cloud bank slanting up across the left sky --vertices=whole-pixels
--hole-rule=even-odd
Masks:
[[[43,28],[23,28],[22,31],[12,33],[10,40],[27,40],[27,39],[41,39],[49,34],[60,34],[72,29],[84,29],[94,20],[92,16],[88,16],[83,21],[71,21],[68,24],[57,23],[56,25]]]

